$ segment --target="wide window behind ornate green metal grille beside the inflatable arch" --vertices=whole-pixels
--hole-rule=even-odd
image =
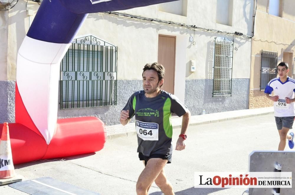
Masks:
[[[60,62],[60,109],[117,105],[117,47],[74,39]]]

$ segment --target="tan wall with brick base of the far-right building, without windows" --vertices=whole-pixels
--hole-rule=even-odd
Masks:
[[[250,98],[249,108],[261,108],[272,105],[260,91],[261,50],[278,52],[278,62],[291,61],[290,69],[294,70],[295,51],[295,3],[293,0],[283,0],[283,17],[268,14],[269,0],[258,0],[255,18],[255,36],[252,39]],[[291,54],[284,60],[284,52]],[[293,59],[290,56],[293,54]],[[293,77],[293,72],[289,76]],[[257,102],[257,103],[256,103]],[[259,103],[261,102],[261,103]]]

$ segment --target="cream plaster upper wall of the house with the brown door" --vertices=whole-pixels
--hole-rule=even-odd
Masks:
[[[17,51],[29,29],[26,2],[25,0],[19,0],[19,3],[9,11],[7,57],[7,77],[9,80],[15,80],[16,78]],[[37,3],[28,2],[28,9],[32,9],[34,14],[38,7],[39,5]],[[188,0],[187,7],[187,16],[159,11],[159,5],[140,7],[121,12],[222,31],[237,31],[247,35],[251,35],[252,33],[253,0],[234,1],[232,26],[216,23],[216,0]],[[31,16],[31,23],[34,16]],[[193,30],[184,27],[149,21],[142,22],[128,17],[101,13],[89,14],[77,36],[92,34],[99,39],[118,46],[117,78],[121,80],[140,80],[142,66],[147,62],[157,61],[158,34],[163,33],[176,36],[176,39],[184,42],[179,44],[181,45],[181,51],[178,49],[178,53],[176,53],[176,56],[181,56],[179,60],[176,59],[178,63],[176,67],[185,70],[181,72],[181,75],[186,77],[186,79],[212,79],[214,37],[234,39],[237,51],[234,50],[232,76],[233,78],[250,77],[251,41],[244,37],[229,36],[204,30],[196,30],[194,35]],[[189,42],[190,36],[195,36],[195,45]],[[38,54],[38,51],[32,52],[36,52],[36,55]],[[189,72],[190,60],[196,60],[197,62],[196,72]],[[181,82],[185,82],[185,80]]]

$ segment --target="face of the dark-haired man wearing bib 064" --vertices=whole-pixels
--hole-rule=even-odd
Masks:
[[[160,90],[160,85],[163,84],[163,80],[159,82],[158,73],[155,70],[146,70],[142,74],[143,90],[147,94],[157,93]]]

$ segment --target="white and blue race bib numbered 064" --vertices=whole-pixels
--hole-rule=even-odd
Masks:
[[[146,123],[139,120],[135,120],[136,133],[138,137],[143,140],[158,141],[159,140],[159,124],[158,123]]]

